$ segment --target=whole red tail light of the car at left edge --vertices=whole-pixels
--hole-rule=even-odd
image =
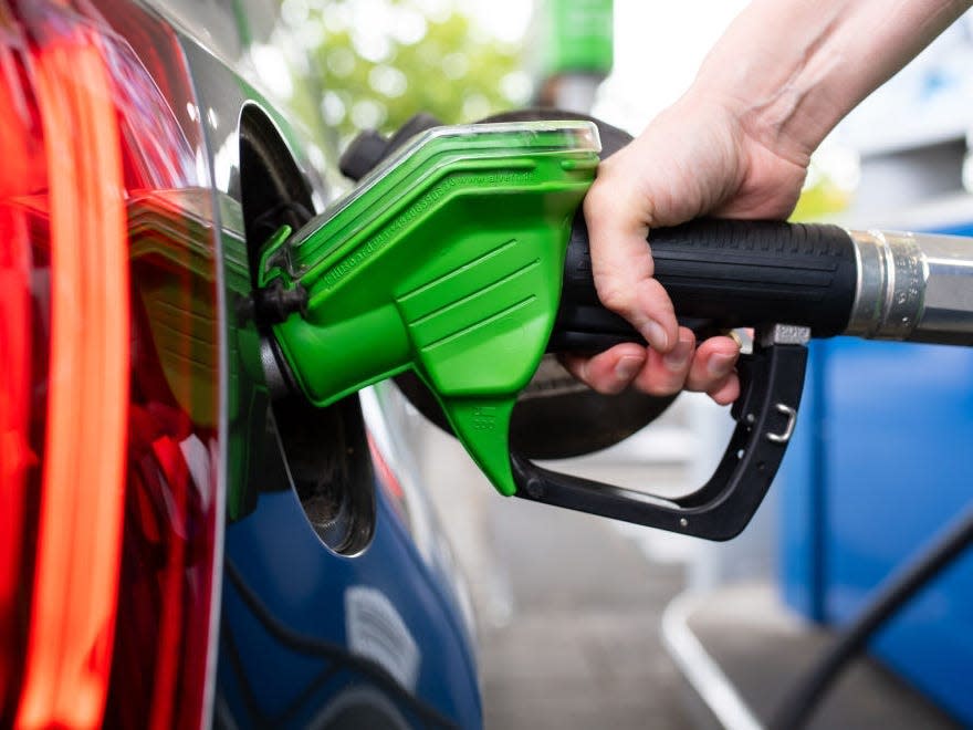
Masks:
[[[171,32],[84,7],[0,0],[0,724],[198,727],[220,512],[201,132]]]

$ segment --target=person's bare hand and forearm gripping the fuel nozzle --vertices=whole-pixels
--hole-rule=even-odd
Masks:
[[[585,199],[595,284],[649,347],[627,343],[568,369],[600,393],[740,395],[740,350],[697,343],[652,279],[651,229],[702,215],[783,219],[810,154],[973,0],[754,0],[687,93],[605,160]]]

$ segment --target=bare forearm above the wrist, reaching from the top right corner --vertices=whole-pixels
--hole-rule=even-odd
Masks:
[[[973,0],[755,0],[691,93],[715,94],[764,146],[798,164],[865,96]]]

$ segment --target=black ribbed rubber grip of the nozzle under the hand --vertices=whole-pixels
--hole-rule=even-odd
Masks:
[[[781,323],[816,337],[841,333],[855,300],[857,267],[837,226],[700,219],[649,234],[656,278],[676,314],[694,330]],[[577,216],[551,352],[597,352],[641,338],[599,302],[587,228]]]

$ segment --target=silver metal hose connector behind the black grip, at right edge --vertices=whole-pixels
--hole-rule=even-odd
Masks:
[[[846,334],[973,345],[973,240],[849,231],[858,286]]]

